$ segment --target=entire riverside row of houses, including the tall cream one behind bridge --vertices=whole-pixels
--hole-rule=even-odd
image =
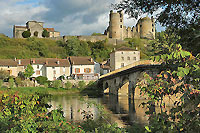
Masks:
[[[130,65],[140,60],[140,51],[121,47],[110,54],[110,59],[102,63],[91,57],[71,56],[66,59],[32,58],[32,59],[0,59],[0,69],[17,77],[24,72],[27,65],[34,69],[32,77],[45,76],[48,80],[56,80],[60,76],[80,80],[96,80],[100,75]]]

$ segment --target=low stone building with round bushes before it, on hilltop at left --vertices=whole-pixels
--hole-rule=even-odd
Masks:
[[[49,37],[59,37],[60,32],[55,31],[54,28],[43,28],[43,22],[28,21],[26,26],[15,26],[13,27],[13,37],[23,38],[22,33],[29,30],[31,32],[31,37],[36,36],[42,38],[42,33],[44,30],[49,32]]]

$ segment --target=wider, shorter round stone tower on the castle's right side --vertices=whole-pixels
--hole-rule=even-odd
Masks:
[[[155,22],[153,17],[141,18],[137,24],[138,32],[140,33],[140,38],[155,39]]]

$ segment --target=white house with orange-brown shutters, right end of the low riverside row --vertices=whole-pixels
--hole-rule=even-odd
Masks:
[[[95,63],[91,57],[69,57],[71,76],[80,80],[95,80],[99,74],[94,72]]]

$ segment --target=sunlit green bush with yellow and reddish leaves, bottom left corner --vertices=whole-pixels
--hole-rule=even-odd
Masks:
[[[48,111],[43,95],[4,93],[0,97],[0,132],[81,132],[61,109]]]

